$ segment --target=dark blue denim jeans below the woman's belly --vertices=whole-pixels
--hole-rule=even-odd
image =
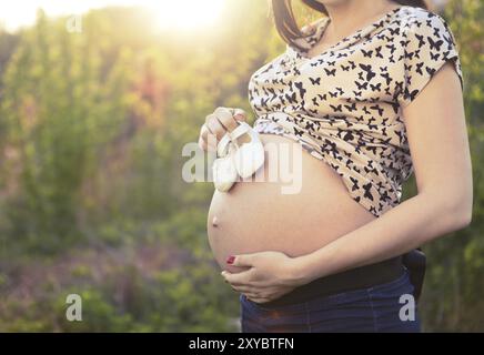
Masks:
[[[409,271],[397,278],[303,303],[266,307],[240,295],[242,333],[419,333]]]

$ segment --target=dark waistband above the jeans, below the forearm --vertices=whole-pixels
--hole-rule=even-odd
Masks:
[[[306,302],[311,298],[329,296],[357,288],[369,288],[391,282],[404,272],[402,256],[385,260],[380,263],[364,265],[342,273],[316,278],[299,286],[281,297],[264,302],[263,307],[282,306]]]

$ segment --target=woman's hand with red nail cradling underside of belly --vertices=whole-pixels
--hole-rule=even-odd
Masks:
[[[299,272],[301,266],[299,258],[290,257],[284,253],[261,252],[230,256],[226,263],[249,267],[240,273],[223,271],[222,276],[234,291],[256,303],[279,298],[306,283]]]

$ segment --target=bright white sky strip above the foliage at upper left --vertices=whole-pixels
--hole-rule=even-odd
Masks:
[[[143,6],[155,13],[160,28],[194,29],[209,26],[221,13],[223,0],[13,0],[0,1],[0,23],[7,30],[32,24],[37,9],[48,16],[82,14],[107,6]],[[191,10],[189,10],[191,9]]]

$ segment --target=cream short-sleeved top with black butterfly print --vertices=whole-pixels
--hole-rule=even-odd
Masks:
[[[252,74],[254,129],[301,143],[381,216],[413,172],[402,108],[450,60],[464,85],[455,39],[438,14],[402,6],[310,58],[329,22],[307,26],[303,50],[288,44]]]

